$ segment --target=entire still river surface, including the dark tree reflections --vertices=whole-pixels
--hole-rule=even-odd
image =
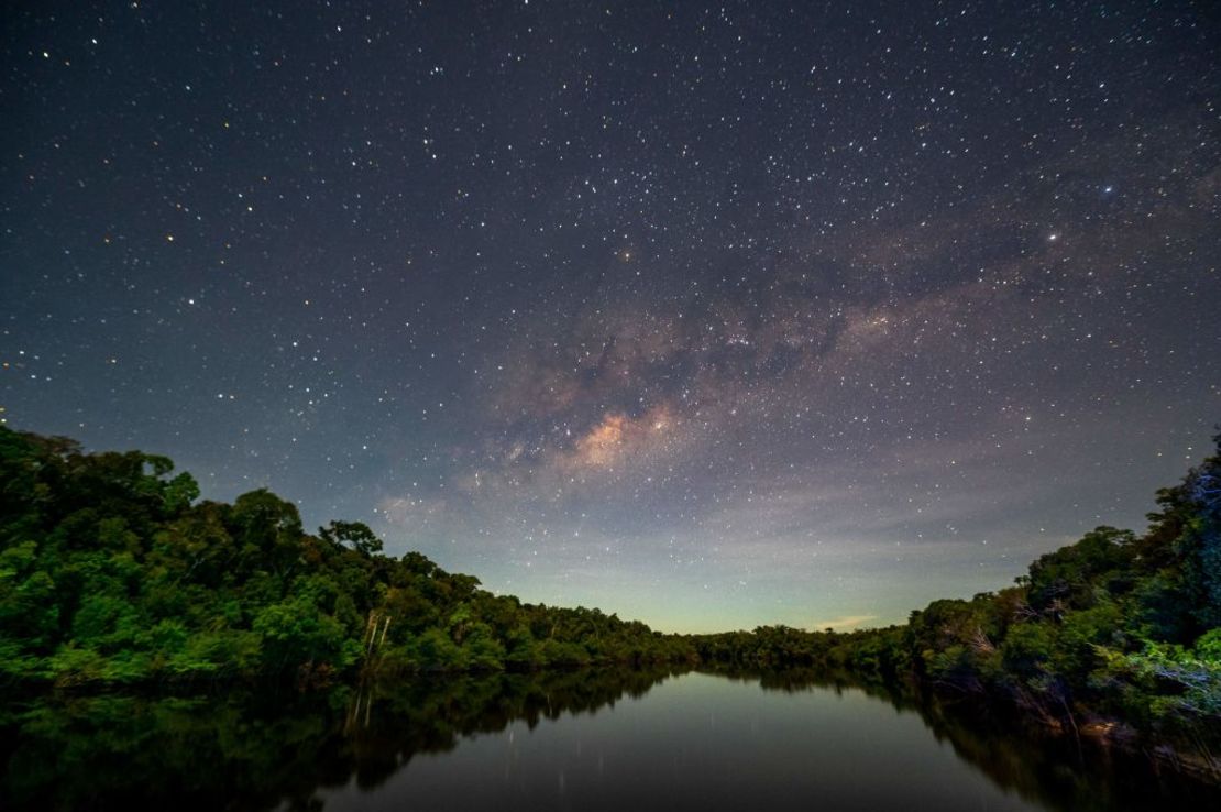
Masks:
[[[4,810],[1221,808],[1145,759],[808,674],[57,697],[0,725]]]

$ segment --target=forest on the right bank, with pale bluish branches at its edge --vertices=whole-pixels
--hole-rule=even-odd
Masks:
[[[706,663],[834,668],[1004,697],[1048,722],[1221,730],[1221,435],[1158,492],[1143,535],[1098,527],[1000,592],[934,601],[852,634],[767,626],[694,639]]]

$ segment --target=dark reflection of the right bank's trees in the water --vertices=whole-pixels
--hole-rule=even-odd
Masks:
[[[1167,770],[1139,752],[1053,734],[978,697],[952,701],[910,683],[862,681],[846,672],[814,668],[716,673],[757,683],[766,691],[861,691],[896,713],[918,714],[938,741],[998,786],[1050,810],[1221,808],[1221,788]]]

